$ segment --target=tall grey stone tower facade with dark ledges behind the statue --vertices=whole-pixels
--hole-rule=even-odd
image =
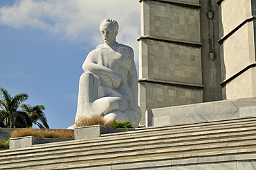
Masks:
[[[255,0],[140,0],[147,109],[256,97]]]

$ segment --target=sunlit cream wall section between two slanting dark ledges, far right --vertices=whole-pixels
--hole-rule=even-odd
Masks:
[[[223,41],[221,45],[223,46],[223,53],[221,53],[223,79],[228,79],[246,66],[255,63],[253,25],[253,21],[246,23]]]

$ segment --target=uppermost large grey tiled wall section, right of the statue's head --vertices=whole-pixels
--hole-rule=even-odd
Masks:
[[[156,37],[201,41],[198,31],[200,28],[198,7],[189,8],[179,3],[160,1],[143,1],[143,6],[143,18],[149,18],[150,24],[148,25],[149,32],[145,31],[146,26],[143,26],[142,33],[149,33],[148,35]]]

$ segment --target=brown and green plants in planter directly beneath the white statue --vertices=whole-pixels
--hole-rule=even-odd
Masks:
[[[104,119],[102,116],[98,115],[93,115],[91,117],[80,117],[77,122],[75,122],[75,125],[77,127],[82,127],[82,126],[92,126],[92,125],[102,125],[105,127],[111,127],[111,128],[125,128],[128,130],[128,128],[132,128],[134,124],[132,122],[128,121],[117,121],[117,120],[110,120],[107,121]]]

